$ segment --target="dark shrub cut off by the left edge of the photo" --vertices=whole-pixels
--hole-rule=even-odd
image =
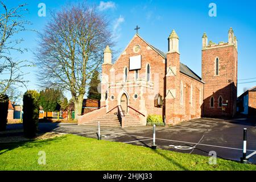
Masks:
[[[0,131],[6,130],[9,98],[0,94]]]

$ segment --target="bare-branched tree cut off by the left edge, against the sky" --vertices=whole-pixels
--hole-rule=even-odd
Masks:
[[[26,60],[14,60],[12,57],[14,52],[24,53],[27,51],[27,49],[19,47],[23,39],[16,38],[16,35],[26,31],[26,25],[30,24],[23,19],[24,14],[28,11],[25,8],[26,5],[22,4],[8,9],[0,1],[0,96],[6,94],[13,85],[26,84],[23,78],[25,73],[21,69],[30,65],[27,64]]]

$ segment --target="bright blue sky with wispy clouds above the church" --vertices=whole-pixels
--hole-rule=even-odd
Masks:
[[[49,19],[52,10],[59,10],[70,2],[77,1],[43,1],[43,0],[19,0],[3,1],[7,7],[13,7],[18,3],[28,3],[30,10],[26,19],[30,20],[32,28],[41,31]],[[105,13],[111,21],[111,27],[117,45],[114,49],[122,51],[130,39],[133,38],[134,28],[141,27],[139,34],[155,47],[167,52],[167,38],[172,29],[175,29],[180,37],[180,60],[188,65],[197,75],[201,76],[201,37],[207,32],[208,40],[215,43],[228,42],[228,30],[233,27],[234,34],[238,39],[238,96],[242,94],[243,88],[251,88],[256,85],[256,1],[87,1],[98,7],[98,11]],[[46,17],[38,16],[38,4],[46,4]],[[210,17],[208,7],[210,3],[216,3],[217,16]],[[34,61],[32,54],[35,51],[37,35],[36,32],[23,32],[20,34],[25,41],[22,47],[28,48],[23,55],[15,54],[18,59]],[[29,68],[24,70],[29,74],[26,76],[28,89],[39,89],[36,85],[36,71],[40,68]],[[243,80],[247,78],[255,78]],[[26,90],[25,88],[21,89]],[[70,94],[67,93],[70,98]]]

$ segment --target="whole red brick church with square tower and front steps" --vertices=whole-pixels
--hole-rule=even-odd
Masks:
[[[237,39],[228,43],[203,35],[202,78],[180,63],[179,36],[173,30],[168,52],[135,34],[118,59],[104,51],[101,109],[79,118],[79,124],[101,121],[125,126],[146,125],[149,114],[162,115],[166,125],[200,117],[233,117],[237,99]]]

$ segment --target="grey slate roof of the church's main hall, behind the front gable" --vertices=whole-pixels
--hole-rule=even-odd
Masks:
[[[137,36],[139,36],[137,34]],[[141,38],[141,36],[139,36],[139,38]],[[167,54],[164,53],[163,51],[160,51],[158,48],[152,46],[151,44],[147,43],[146,40],[144,40],[143,38],[141,38],[146,44],[148,44],[148,46],[150,46],[152,49],[154,49],[157,53],[159,53],[159,55],[161,55],[162,57],[164,57],[164,59],[167,59]],[[198,75],[196,75],[195,72],[193,72],[187,65],[180,63],[180,72],[183,73],[184,75],[187,75],[191,78],[194,78],[197,81],[203,82],[202,78],[199,77]],[[203,82],[204,83],[204,82]]]

